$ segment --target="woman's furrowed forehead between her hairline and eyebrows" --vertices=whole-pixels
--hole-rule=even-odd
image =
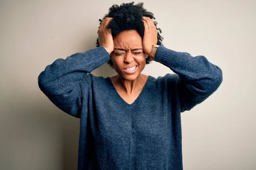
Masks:
[[[136,30],[122,31],[113,38],[116,48],[139,48],[142,47],[142,38]]]

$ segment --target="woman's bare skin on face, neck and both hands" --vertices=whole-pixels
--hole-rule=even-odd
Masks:
[[[141,72],[145,68],[145,59],[150,54],[152,46],[157,44],[157,29],[153,20],[143,17],[145,28],[143,40],[136,30],[122,31],[113,38],[111,30],[105,28],[111,20],[112,18],[108,17],[102,20],[98,30],[99,44],[111,54],[113,66],[118,73],[110,77],[112,84],[122,99],[132,104],[148,79],[148,75]],[[137,65],[134,74],[124,71],[125,68],[134,65]]]

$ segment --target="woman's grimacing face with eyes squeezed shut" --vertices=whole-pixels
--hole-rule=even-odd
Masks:
[[[116,72],[127,80],[136,79],[145,68],[148,57],[142,48],[142,38],[136,30],[122,31],[113,38],[111,59]],[[136,66],[135,70],[125,70]]]

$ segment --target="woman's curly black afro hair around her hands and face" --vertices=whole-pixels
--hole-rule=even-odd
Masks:
[[[108,24],[107,28],[111,28],[112,37],[120,34],[122,31],[127,30],[137,30],[140,34],[140,37],[143,39],[144,35],[144,23],[142,17],[150,17],[151,19],[155,20],[154,14],[152,12],[147,11],[143,7],[144,3],[138,3],[134,5],[134,2],[131,3],[122,3],[120,6],[114,4],[109,8],[108,14],[105,14],[103,19],[106,17],[113,17],[113,20]],[[101,24],[102,20],[99,19]],[[157,22],[154,21],[154,25],[157,28]],[[157,30],[162,33],[160,28]],[[157,45],[162,45],[163,37],[160,36],[159,32],[157,31]],[[96,47],[99,47],[99,39],[96,40]],[[146,64],[149,64],[152,61],[150,57],[146,58]],[[114,68],[113,62],[110,59],[108,61],[108,65],[111,68]]]

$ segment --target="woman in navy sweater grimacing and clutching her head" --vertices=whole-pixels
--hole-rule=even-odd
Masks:
[[[152,18],[143,3],[112,6],[96,48],[56,59],[38,77],[58,108],[80,118],[78,169],[183,169],[180,113],[216,91],[222,71],[204,56],[164,47]],[[141,74],[152,60],[175,74]],[[90,74],[106,62],[116,76]]]

